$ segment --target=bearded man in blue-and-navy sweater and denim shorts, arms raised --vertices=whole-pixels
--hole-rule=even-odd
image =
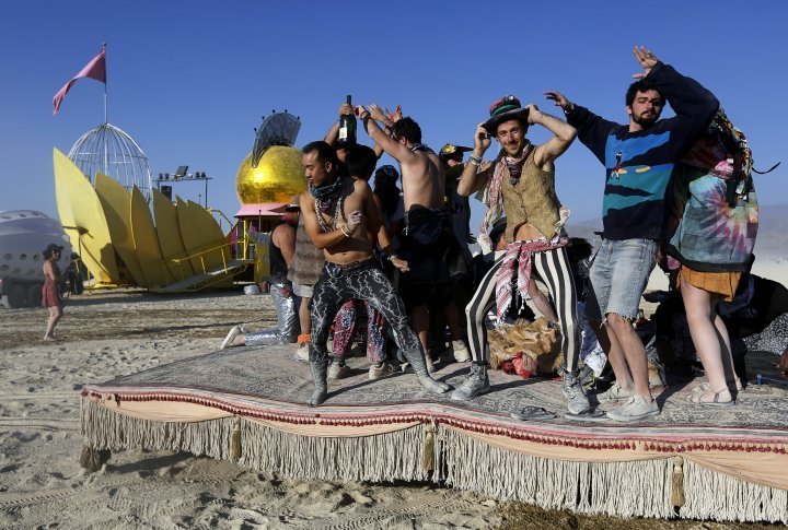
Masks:
[[[558,92],[546,92],[606,168],[602,245],[589,273],[586,314],[616,376],[600,401],[622,403],[607,412],[621,422],[660,412],[651,398],[646,352],[633,321],[665,237],[665,190],[674,165],[719,107],[708,90],[647,49],[635,48],[635,57],[645,73],[636,74],[641,79],[627,91],[626,126],[607,121]],[[665,101],[676,116],[660,120]]]

